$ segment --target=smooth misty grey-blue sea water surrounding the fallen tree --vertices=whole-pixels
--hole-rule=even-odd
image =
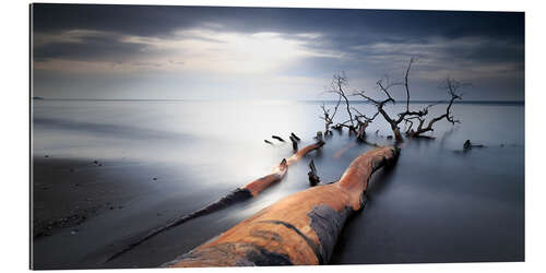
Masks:
[[[354,106],[373,110],[367,104]],[[444,107],[437,105],[431,115]],[[157,266],[307,189],[309,159],[321,180],[330,182],[372,149],[356,143],[347,131],[335,132],[321,151],[290,166],[287,177],[260,197],[173,228],[105,263],[108,253],[138,234],[266,175],[292,155],[290,132],[301,138],[300,146],[312,143],[324,128],[320,103],[33,100],[32,109],[35,158],[98,159],[106,168],[97,181],[114,187],[127,180],[117,178],[129,177],[135,188],[142,187],[127,198],[124,210],[87,219],[78,236],[68,229],[34,241],[35,266],[44,269]],[[395,167],[373,176],[367,206],[348,219],[332,264],[524,259],[524,106],[456,104],[453,111],[460,124],[437,122],[430,134],[436,140],[407,142]],[[342,107],[336,118],[346,119]],[[287,142],[272,140],[272,134]],[[368,141],[389,144],[390,134],[378,117]],[[485,147],[464,153],[465,140]],[[158,181],[142,186],[151,177]]]

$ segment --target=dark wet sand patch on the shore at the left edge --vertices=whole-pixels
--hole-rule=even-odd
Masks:
[[[106,211],[122,210],[138,194],[131,176],[111,179],[108,173],[131,164],[34,158],[34,239],[70,228],[71,234],[87,218]],[[142,186],[145,183],[142,183]]]

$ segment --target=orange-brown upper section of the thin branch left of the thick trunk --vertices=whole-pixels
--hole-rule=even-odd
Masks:
[[[296,162],[301,159],[306,154],[309,152],[320,149],[322,145],[324,145],[323,141],[319,141],[316,144],[308,145],[301,150],[299,150],[297,153],[288,157],[288,159],[283,159],[278,166],[275,166],[270,175],[266,175],[264,177],[258,178],[240,189],[242,190],[248,190],[252,197],[258,195],[262,190],[269,188],[271,185],[281,181],[285,175],[286,171],[288,170],[288,166],[294,165]]]

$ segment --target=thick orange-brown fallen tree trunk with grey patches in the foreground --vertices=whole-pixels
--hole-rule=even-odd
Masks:
[[[335,183],[292,194],[165,266],[324,264],[347,216],[365,204],[373,171],[395,161],[399,149],[357,157]]]

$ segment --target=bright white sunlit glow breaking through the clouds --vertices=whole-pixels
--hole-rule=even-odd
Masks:
[[[38,36],[35,45],[39,47],[55,43],[80,44],[86,35],[111,37],[116,34],[72,29],[56,35]],[[286,35],[273,32],[245,34],[206,28],[177,31],[169,37],[120,35],[118,39],[120,43],[141,46],[141,56],[130,60],[38,60],[35,61],[35,68],[98,73],[142,70],[217,74],[271,73],[302,58],[336,58],[335,55],[306,47],[309,39],[319,36],[313,33],[301,33],[294,37],[286,37]]]

